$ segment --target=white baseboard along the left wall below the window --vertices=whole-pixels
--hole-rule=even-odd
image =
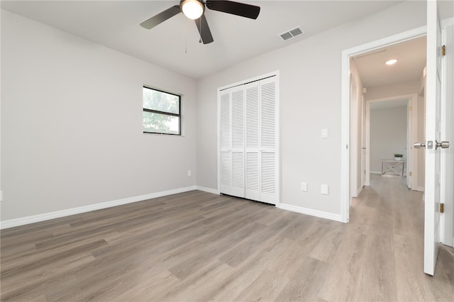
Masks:
[[[157,197],[178,194],[178,193],[183,193],[183,192],[187,192],[187,191],[194,191],[196,189],[197,189],[196,186],[187,186],[186,188],[173,189],[173,190],[169,190],[169,191],[161,191],[161,192],[152,193],[152,194],[118,199],[116,201],[106,201],[103,203],[91,204],[89,206],[79,206],[77,208],[69,208],[67,210],[62,210],[62,211],[55,211],[55,212],[44,213],[44,214],[39,214],[39,215],[35,215],[35,216],[28,216],[28,217],[23,217],[23,218],[5,220],[5,221],[0,222],[0,230],[5,229],[5,228],[13,228],[13,227],[16,227],[19,225],[27,225],[30,223],[39,223],[40,221],[45,221],[45,220],[50,220],[50,219],[60,218],[60,217],[65,217],[65,216],[71,216],[74,214],[85,213],[85,212],[89,212],[89,211],[100,210],[101,208],[111,208],[113,206],[121,206],[126,203],[145,201],[147,199],[153,199],[153,198],[157,198]]]

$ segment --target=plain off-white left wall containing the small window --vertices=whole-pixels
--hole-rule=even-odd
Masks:
[[[193,79],[3,10],[1,75],[2,221],[195,186]],[[143,84],[184,137],[142,133]]]

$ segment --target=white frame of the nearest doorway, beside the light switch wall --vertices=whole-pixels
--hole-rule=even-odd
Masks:
[[[427,26],[421,26],[387,38],[342,51],[341,68],[341,221],[350,221],[350,57],[388,45],[422,37]]]

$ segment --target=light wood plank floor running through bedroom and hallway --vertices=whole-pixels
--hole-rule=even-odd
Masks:
[[[1,231],[1,301],[453,301],[423,202],[372,176],[350,223],[192,191]]]

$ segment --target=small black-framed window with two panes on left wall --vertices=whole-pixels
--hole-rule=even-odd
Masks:
[[[143,87],[143,133],[181,135],[181,96]]]

